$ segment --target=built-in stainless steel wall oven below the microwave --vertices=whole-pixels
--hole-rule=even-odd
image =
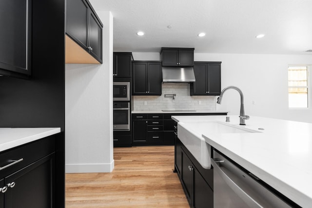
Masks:
[[[113,130],[130,131],[130,103],[114,102],[113,104]]]

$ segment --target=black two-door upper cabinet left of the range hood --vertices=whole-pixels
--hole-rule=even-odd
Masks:
[[[161,61],[133,61],[132,80],[132,95],[161,95]]]

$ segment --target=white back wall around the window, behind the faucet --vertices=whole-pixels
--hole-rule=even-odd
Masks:
[[[195,54],[194,59],[222,61],[221,88],[234,85],[242,90],[247,115],[312,123],[311,108],[288,108],[288,65],[311,65],[311,55]],[[239,114],[239,103],[239,94],[229,90],[216,109]]]

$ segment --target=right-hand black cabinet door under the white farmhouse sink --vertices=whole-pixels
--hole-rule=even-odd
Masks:
[[[214,192],[196,169],[194,169],[193,207],[214,208]]]

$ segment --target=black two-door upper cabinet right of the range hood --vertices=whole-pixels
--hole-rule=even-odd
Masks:
[[[190,95],[220,95],[221,62],[194,63],[195,82],[190,83]]]

